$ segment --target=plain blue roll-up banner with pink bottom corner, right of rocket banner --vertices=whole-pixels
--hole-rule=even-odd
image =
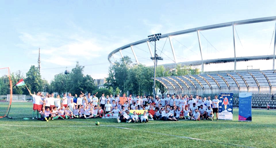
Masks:
[[[239,93],[239,121],[252,121],[252,93]]]

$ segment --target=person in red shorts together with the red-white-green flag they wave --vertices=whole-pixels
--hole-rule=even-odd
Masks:
[[[23,85],[26,86],[24,80],[21,79],[17,82],[17,84],[15,86],[23,86]],[[37,94],[32,94],[27,86],[26,86],[26,88],[29,91],[30,95],[33,97],[32,119],[34,119],[35,112],[37,112],[36,117],[41,118],[41,115],[39,114],[39,112],[42,110],[43,105],[41,105],[40,103],[44,103],[42,101],[42,98],[44,98],[44,95],[41,92],[37,92]]]

